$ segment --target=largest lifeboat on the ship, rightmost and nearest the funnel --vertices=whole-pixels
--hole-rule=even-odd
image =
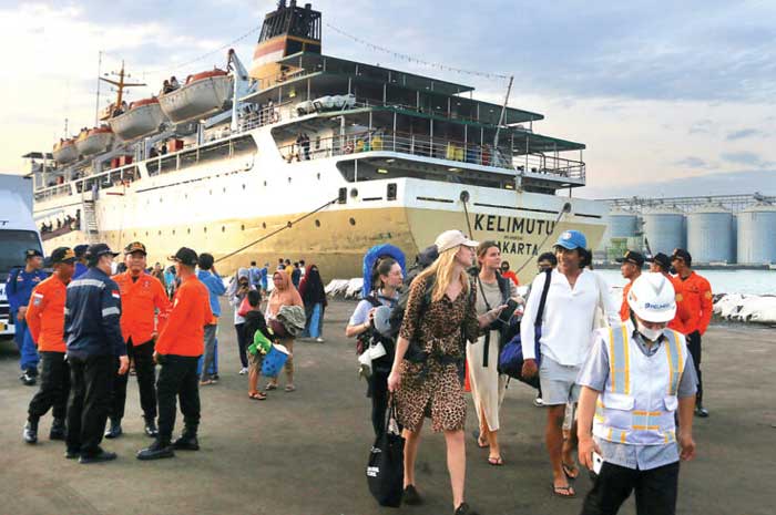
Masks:
[[[164,114],[173,122],[201,119],[225,109],[232,100],[233,79],[223,70],[188,75],[185,84],[159,97]]]

